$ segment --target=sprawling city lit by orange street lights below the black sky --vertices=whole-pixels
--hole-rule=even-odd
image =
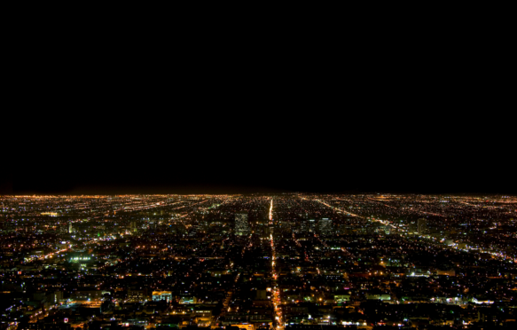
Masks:
[[[2,329],[513,326],[516,220],[513,196],[4,197]]]

